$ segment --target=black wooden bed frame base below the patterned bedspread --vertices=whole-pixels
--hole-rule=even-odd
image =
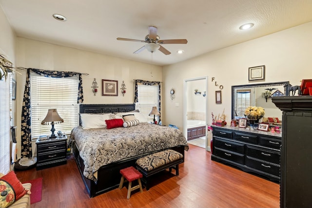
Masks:
[[[183,154],[183,162],[184,162],[184,146],[177,146],[177,147],[170,148],[170,149]],[[118,188],[120,178],[121,178],[119,171],[121,169],[130,167],[130,166],[136,167],[136,161],[138,158],[146,156],[151,153],[155,153],[155,152],[156,151],[148,152],[146,154],[138,155],[138,156],[131,157],[128,159],[120,160],[112,164],[105,165],[98,170],[98,180],[93,181],[93,180],[86,178],[83,175],[83,169],[84,169],[83,160],[79,156],[79,150],[76,146],[76,143],[75,142],[73,143],[73,154],[75,156],[75,160],[76,160],[80,175],[82,177],[82,180],[84,182],[84,185],[90,197],[94,197],[99,194],[105,193],[109,190]]]

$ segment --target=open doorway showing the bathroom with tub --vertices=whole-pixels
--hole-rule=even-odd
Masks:
[[[184,135],[189,144],[210,151],[207,141],[208,76],[184,79]]]

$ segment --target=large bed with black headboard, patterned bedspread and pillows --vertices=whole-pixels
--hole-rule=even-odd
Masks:
[[[116,189],[121,177],[119,170],[135,166],[140,157],[167,149],[184,156],[184,151],[188,150],[180,130],[144,122],[141,114],[135,111],[135,104],[80,104],[79,115],[80,125],[72,130],[70,139],[90,197]],[[110,119],[105,119],[104,127],[90,125],[89,128],[86,117],[92,118],[92,122],[98,118]],[[114,128],[112,123],[119,122],[120,118],[135,120],[122,121],[122,127]]]

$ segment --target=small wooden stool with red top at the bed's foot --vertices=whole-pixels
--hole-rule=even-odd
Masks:
[[[131,191],[136,190],[136,189],[140,189],[140,192],[143,191],[141,179],[140,179],[140,178],[142,178],[143,175],[137,169],[135,169],[134,167],[131,166],[129,168],[125,168],[125,169],[120,170],[120,174],[122,176],[121,176],[121,180],[120,180],[120,184],[119,184],[119,189],[122,188],[122,185],[123,185],[125,178],[129,182],[127,199],[130,199]],[[138,181],[138,185],[135,187],[131,187],[132,181],[134,181],[134,180]]]

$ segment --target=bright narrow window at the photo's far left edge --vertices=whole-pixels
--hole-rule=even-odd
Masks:
[[[11,105],[11,75],[5,80],[0,80],[0,172],[7,173],[10,170],[10,105]]]

